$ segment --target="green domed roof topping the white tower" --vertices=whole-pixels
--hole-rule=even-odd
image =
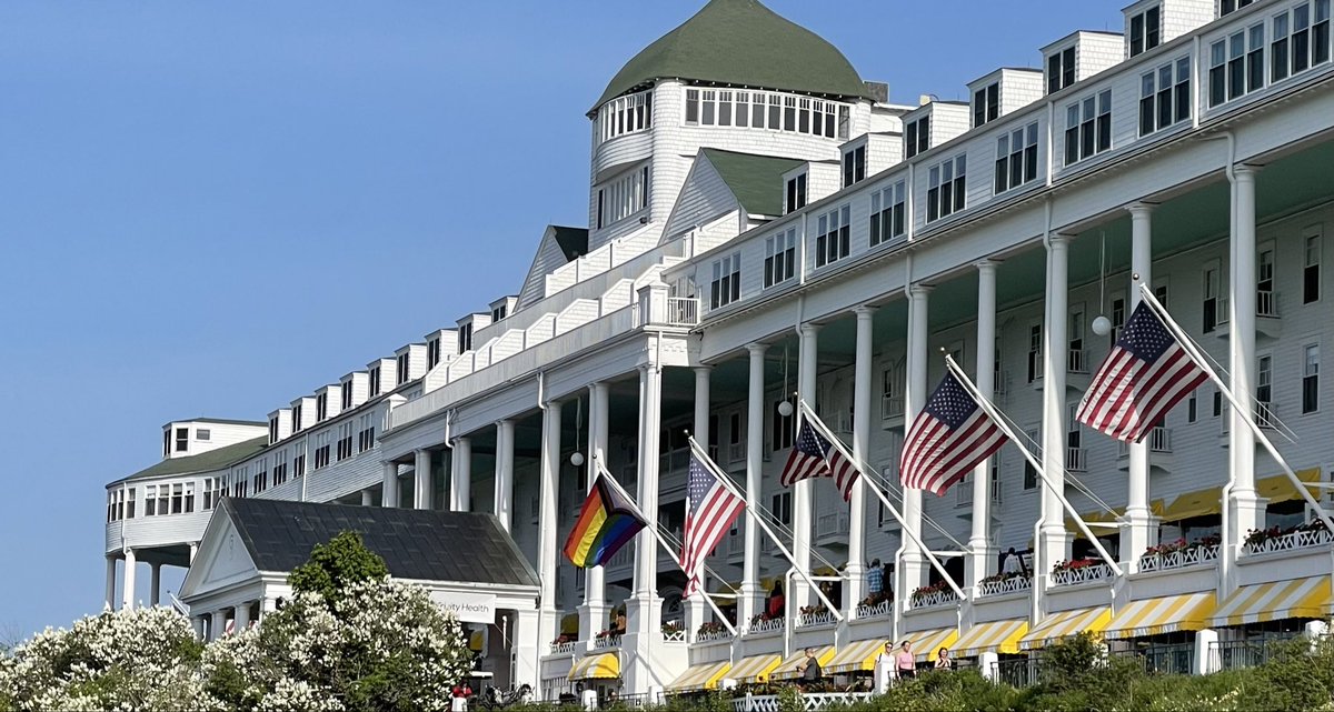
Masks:
[[[847,57],[756,0],[711,0],[616,72],[590,111],[655,79],[691,79],[824,96],[867,96]]]

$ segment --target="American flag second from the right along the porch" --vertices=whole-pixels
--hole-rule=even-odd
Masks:
[[[912,419],[903,441],[899,479],[903,487],[944,495],[1005,441],[995,420],[978,407],[954,373],[946,373],[926,408]]]

